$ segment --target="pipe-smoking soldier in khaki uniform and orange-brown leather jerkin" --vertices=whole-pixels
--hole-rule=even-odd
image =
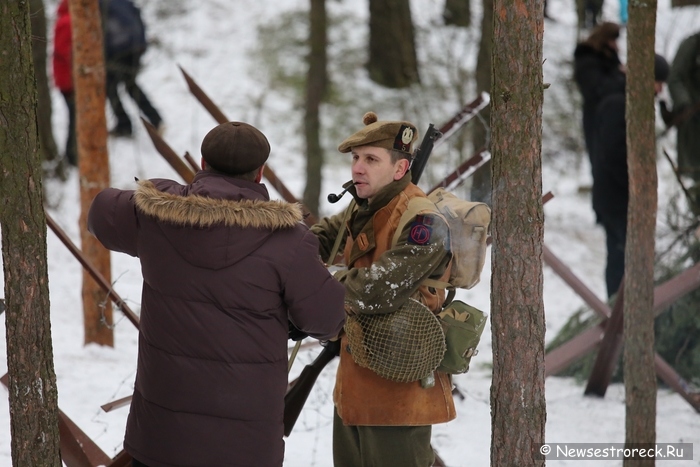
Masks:
[[[425,279],[449,275],[449,233],[437,208],[419,212],[405,224],[395,245],[399,220],[414,197],[425,193],[411,183],[409,171],[416,127],[405,121],[378,121],[368,112],[365,127],[340,144],[352,155],[354,197],[346,212],[312,227],[324,261],[336,238],[347,270],[336,274],[345,286],[348,315],[396,311],[414,298],[433,313],[445,291],[422,286]],[[336,467],[427,467],[434,461],[431,425],[455,418],[450,377],[435,372],[432,386],[401,383],[359,366],[341,339],[340,364],[333,394],[333,458]],[[424,387],[427,386],[427,387]]]

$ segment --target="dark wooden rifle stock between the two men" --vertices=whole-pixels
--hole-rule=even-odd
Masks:
[[[295,382],[287,388],[287,393],[284,395],[284,436],[289,436],[292,432],[321,371],[339,353],[340,339],[329,341],[316,359],[306,365]]]

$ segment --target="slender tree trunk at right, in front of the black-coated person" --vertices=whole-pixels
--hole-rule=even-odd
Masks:
[[[626,443],[656,440],[654,239],[657,176],[654,132],[656,0],[630,3],[626,120],[629,205],[625,245],[624,378]],[[623,465],[654,465],[654,459]]]

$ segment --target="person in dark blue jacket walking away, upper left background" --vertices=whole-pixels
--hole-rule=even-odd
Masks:
[[[146,27],[141,11],[131,0],[100,0],[104,32],[107,99],[117,123],[110,130],[113,136],[131,136],[132,125],[119,98],[119,85],[134,100],[148,121],[163,132],[163,119],[136,83],[141,57],[146,53]]]

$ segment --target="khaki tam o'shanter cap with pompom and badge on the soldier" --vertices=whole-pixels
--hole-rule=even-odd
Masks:
[[[396,149],[406,154],[413,153],[413,142],[418,139],[418,130],[410,122],[379,121],[377,114],[367,112],[362,117],[365,127],[340,143],[338,151],[350,152],[357,146],[376,146],[388,150]]]

